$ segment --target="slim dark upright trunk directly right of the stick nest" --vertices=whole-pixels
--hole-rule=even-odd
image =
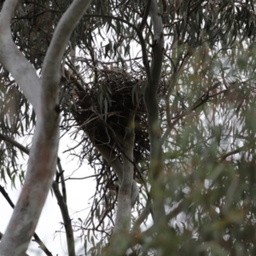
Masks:
[[[157,100],[157,89],[160,84],[160,74],[164,57],[164,30],[160,9],[155,0],[151,0],[149,16],[151,17],[154,28],[154,38],[150,77],[148,78],[148,84],[144,91],[144,102],[147,108],[150,141],[150,195],[153,200],[154,223],[159,224],[166,218],[163,196],[165,189],[162,183],[164,178],[164,162]]]

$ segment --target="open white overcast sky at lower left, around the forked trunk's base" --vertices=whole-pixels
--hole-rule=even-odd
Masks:
[[[63,170],[65,170],[65,177],[73,174],[73,177],[85,177],[93,174],[90,166],[84,165],[78,169],[78,160],[73,157],[68,157],[68,153],[62,154],[68,147],[73,147],[75,144],[72,140],[65,136],[61,138],[59,157],[61,159],[61,165]],[[4,186],[3,181],[0,184]],[[90,211],[90,197],[94,195],[96,183],[92,178],[81,179],[81,180],[67,180],[67,205],[69,209],[70,217],[73,220],[87,217]],[[18,196],[20,195],[20,183],[16,182],[16,189],[7,186],[7,193],[11,200],[16,203]],[[0,231],[4,234],[4,231],[9,223],[13,210],[9,206],[9,203],[4,199],[3,195],[0,194]],[[61,211],[56,203],[55,196],[49,192],[47,201],[44,205],[43,212],[38,222],[38,227],[36,233],[40,237],[46,247],[53,255],[67,255],[67,242],[65,236],[65,230],[61,229]],[[60,232],[61,231],[61,232]],[[74,233],[76,241],[77,254],[82,254],[83,251],[83,241],[79,239],[79,232]],[[81,248],[79,250],[79,248]],[[42,252],[42,253],[40,253]],[[38,244],[34,241],[31,242],[31,246],[27,253],[30,256],[33,255],[45,255],[41,249],[38,249]],[[40,253],[40,254],[38,254]]]

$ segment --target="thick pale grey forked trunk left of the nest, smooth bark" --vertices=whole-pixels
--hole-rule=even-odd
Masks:
[[[61,17],[44,59],[38,79],[32,65],[13,42],[10,20],[18,0],[3,3],[0,15],[0,62],[15,78],[37,114],[26,179],[19,200],[0,245],[1,256],[26,253],[55,174],[59,144],[58,92],[61,57],[74,27],[90,4],[75,0]]]

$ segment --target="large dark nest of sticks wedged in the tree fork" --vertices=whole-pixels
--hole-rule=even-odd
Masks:
[[[109,69],[107,67],[90,70],[95,73],[94,82],[75,87],[70,111],[73,119],[84,131],[84,154],[91,166],[100,155],[94,150],[95,144],[107,144],[119,157],[120,141],[125,139],[127,129],[134,127],[134,160],[137,163],[148,162],[149,138],[147,113],[143,102],[143,88],[146,78],[143,70],[126,71],[124,68]],[[78,82],[76,76],[70,77],[70,89]],[[166,93],[166,84],[160,83],[159,93]],[[64,107],[65,108],[65,107]],[[160,108],[160,115],[164,115]],[[134,122],[131,117],[134,115]],[[120,158],[121,159],[121,158]],[[101,160],[101,163],[104,161]],[[106,162],[105,162],[106,164]]]

